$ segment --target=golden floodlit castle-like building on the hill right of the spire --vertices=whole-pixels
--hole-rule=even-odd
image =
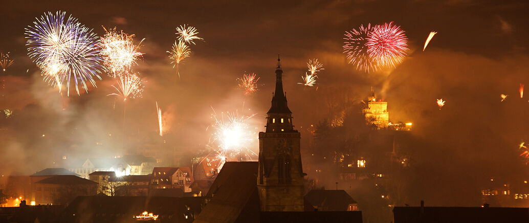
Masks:
[[[375,92],[367,98],[368,103],[363,109],[366,122],[376,125],[378,128],[386,128],[389,126],[389,112],[388,103],[380,99],[377,100]]]

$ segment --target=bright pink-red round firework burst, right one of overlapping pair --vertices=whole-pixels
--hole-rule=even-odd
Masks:
[[[408,38],[393,22],[376,25],[368,34],[369,57],[379,66],[395,67],[406,57]]]

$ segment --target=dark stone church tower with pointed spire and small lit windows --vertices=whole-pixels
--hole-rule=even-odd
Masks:
[[[261,211],[303,211],[303,173],[300,134],[292,125],[292,112],[281,80],[277,59],[276,92],[268,110],[266,131],[259,133],[257,188]]]

